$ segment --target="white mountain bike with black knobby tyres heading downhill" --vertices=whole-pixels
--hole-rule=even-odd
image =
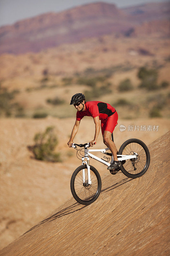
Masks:
[[[113,137],[112,137],[113,140]],[[81,149],[77,149],[80,147]],[[70,188],[74,199],[84,205],[93,203],[99,196],[102,181],[100,174],[95,167],[89,164],[89,158],[93,158],[104,165],[110,166],[113,161],[112,153],[106,152],[109,148],[88,149],[89,143],[72,144],[72,148],[77,150],[77,157],[82,160],[82,164],[73,172]],[[101,152],[104,159],[99,158],[90,152]],[[149,168],[150,153],[145,143],[138,139],[126,140],[120,147],[117,154],[120,167],[110,170],[111,174],[121,171],[127,177],[135,179],[141,177]],[[111,163],[110,162],[111,158]],[[85,161],[85,159],[87,161]]]

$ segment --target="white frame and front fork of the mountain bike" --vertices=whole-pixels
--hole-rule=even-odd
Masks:
[[[74,145],[74,143],[72,144],[72,148],[75,148],[76,146]],[[85,146],[85,149],[84,149],[84,157],[82,157],[82,165],[83,164],[86,164],[87,166],[87,171],[88,171],[88,183],[91,184],[91,179],[90,179],[90,164],[89,164],[89,157],[90,156],[91,158],[93,159],[96,159],[97,161],[107,165],[107,166],[110,166],[111,164],[109,164],[108,162],[104,161],[103,159],[89,153],[89,152],[101,152],[101,153],[105,153],[107,150],[109,150],[109,148],[104,148],[104,149],[87,149],[89,148],[89,143]],[[135,155],[117,155],[118,156],[118,161],[123,161],[123,160],[128,160],[128,159],[133,159],[133,158],[136,158],[137,157],[137,153],[134,152]],[[121,156],[121,157],[119,157]],[[87,161],[84,161],[84,159],[87,159]],[[113,156],[112,156],[112,159],[111,159],[111,163],[113,162]],[[85,170],[83,169],[82,170],[83,172],[83,183],[86,181],[85,180]]]

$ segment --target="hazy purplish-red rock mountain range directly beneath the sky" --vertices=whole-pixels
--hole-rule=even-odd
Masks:
[[[129,36],[143,21],[167,19],[168,3],[118,9],[115,4],[92,3],[63,12],[45,13],[0,28],[0,53],[39,52],[64,43],[105,34]]]

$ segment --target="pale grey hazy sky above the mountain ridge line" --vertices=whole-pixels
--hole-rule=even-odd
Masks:
[[[165,2],[165,0],[0,0],[0,26],[44,12],[60,12],[77,5],[94,2],[106,2],[124,7],[150,2]]]

